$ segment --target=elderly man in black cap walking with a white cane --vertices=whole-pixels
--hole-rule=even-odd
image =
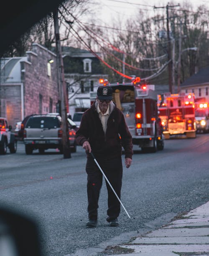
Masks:
[[[90,153],[94,154],[119,198],[122,186],[122,146],[125,150],[126,168],[130,167],[133,155],[132,137],[122,111],[112,101],[110,86],[98,87],[97,99],[82,116],[80,127],[76,132],[76,142],[78,145],[82,145],[87,153],[89,217],[87,227],[92,228],[97,226],[102,173]],[[110,226],[118,226],[120,202],[107,181],[106,186],[108,193],[107,222],[110,223]]]

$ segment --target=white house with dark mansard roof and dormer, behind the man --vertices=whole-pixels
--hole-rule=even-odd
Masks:
[[[90,92],[97,91],[99,79],[108,79],[100,60],[90,51],[62,47],[64,75],[68,87],[69,112],[84,111],[90,107]],[[101,53],[97,52],[101,57]]]

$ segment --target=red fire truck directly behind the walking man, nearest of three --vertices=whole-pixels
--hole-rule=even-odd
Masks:
[[[133,145],[138,145],[146,153],[163,150],[164,136],[161,120],[158,117],[157,93],[154,91],[154,85],[109,83],[106,86],[111,86],[113,89],[112,101],[125,116]],[[96,96],[96,92],[90,93],[91,104]]]

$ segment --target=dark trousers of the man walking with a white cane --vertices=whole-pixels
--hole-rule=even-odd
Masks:
[[[110,181],[110,184],[114,188],[117,196],[120,198],[120,191],[122,186],[122,160],[121,157],[104,160],[97,159],[102,171]],[[87,195],[88,195],[88,213],[90,220],[97,220],[97,209],[99,192],[102,187],[103,175],[99,170],[97,164],[93,158],[87,158],[86,164],[87,172]],[[106,181],[106,180],[105,180]],[[112,191],[110,185],[106,181],[107,193],[108,193],[108,209],[107,209],[107,221],[110,222],[117,218],[120,214],[120,202]]]

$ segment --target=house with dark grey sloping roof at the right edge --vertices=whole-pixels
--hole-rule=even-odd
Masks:
[[[209,67],[203,67],[181,85],[181,92],[194,93],[195,98],[205,98],[209,102]]]

